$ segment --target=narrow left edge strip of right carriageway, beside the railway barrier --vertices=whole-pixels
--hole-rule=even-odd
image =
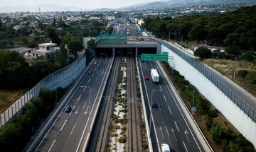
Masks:
[[[149,126],[151,125],[152,129],[150,130],[150,136],[151,136],[151,142],[152,142],[152,148],[153,148],[153,151],[160,151],[159,149],[159,143],[156,139],[156,131],[154,131],[154,116],[153,118],[151,119],[151,123],[150,123],[150,117],[151,117],[151,111],[150,111],[150,101],[149,101],[149,95],[147,93],[147,89],[146,89],[146,86],[145,86],[145,80],[144,80],[144,74],[142,72],[142,65],[141,65],[141,62],[139,61],[139,58],[138,58],[138,64],[139,64],[139,74],[142,78],[142,91],[143,91],[143,94],[144,94],[144,103],[145,103],[145,106],[146,106],[146,115],[148,117],[148,124]]]

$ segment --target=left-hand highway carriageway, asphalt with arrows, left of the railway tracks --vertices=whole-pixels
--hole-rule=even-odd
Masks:
[[[97,64],[92,64],[75,92],[65,105],[71,105],[71,112],[65,113],[64,108],[58,113],[46,134],[43,134],[38,145],[32,151],[82,151],[85,140],[90,132],[90,124],[100,102],[100,94],[107,78],[107,71],[112,61],[111,57],[97,57]],[[86,87],[85,87],[86,86]],[[90,91],[89,91],[90,90]],[[90,92],[90,93],[89,93]]]

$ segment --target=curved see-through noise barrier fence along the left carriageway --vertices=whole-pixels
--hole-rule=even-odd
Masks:
[[[5,124],[9,119],[11,119],[16,113],[21,112],[21,108],[32,98],[38,97],[41,88],[48,88],[50,90],[55,90],[58,87],[65,88],[70,83],[73,83],[76,78],[85,69],[86,56],[83,53],[78,59],[72,64],[65,66],[63,69],[55,71],[53,74],[46,76],[40,81],[36,86],[28,90],[21,98],[16,100],[16,102],[11,105],[5,112],[0,116],[0,126]]]

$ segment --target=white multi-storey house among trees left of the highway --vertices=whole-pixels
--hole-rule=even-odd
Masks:
[[[60,49],[59,47],[56,47],[56,43],[43,43],[39,44],[39,49],[35,49],[31,51],[31,57],[46,57],[46,59],[53,61],[54,60],[54,54],[57,49]]]

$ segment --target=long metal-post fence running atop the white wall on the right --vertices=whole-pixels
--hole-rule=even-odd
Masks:
[[[164,45],[165,47],[171,49],[171,51],[175,52],[178,54],[179,57],[184,59],[186,62],[191,64],[195,69],[201,72],[203,76],[206,76],[208,80],[210,80],[218,89],[220,89],[230,100],[235,103],[240,109],[245,112],[245,114],[252,119],[252,121],[256,122],[256,110],[251,107],[248,103],[245,102],[245,100],[242,100],[239,95],[233,92],[231,88],[225,85],[222,81],[220,81],[219,78],[214,76],[206,67],[203,65],[199,64],[196,62],[194,59],[191,57],[188,57],[187,54],[179,51],[178,49],[172,47],[168,42],[161,41],[161,44]]]

